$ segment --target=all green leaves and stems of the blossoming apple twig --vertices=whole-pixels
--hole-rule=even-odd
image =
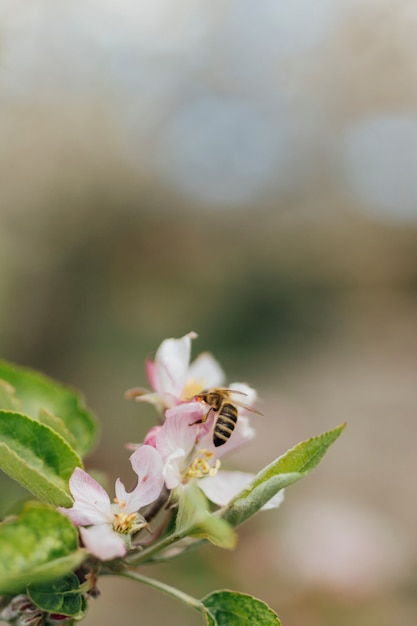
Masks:
[[[85,572],[94,573],[94,578],[96,572],[125,576],[159,588],[196,609],[207,626],[279,626],[277,615],[250,595],[221,590],[200,601],[142,576],[135,566],[166,557],[177,542],[176,554],[205,541],[234,548],[234,527],[281,489],[307,476],[344,427],[299,443],[215,513],[198,480],[178,486],[169,500],[178,505],[171,509],[171,513],[176,510],[175,528],[174,522],[164,526],[159,541],[149,542],[124,561],[101,563],[99,570],[90,555],[83,565]],[[80,587],[74,571],[87,553],[79,548],[75,526],[55,507],[72,505],[68,481],[75,467],[82,467],[81,458],[91,450],[96,430],[95,419],[77,393],[41,374],[0,361],[0,469],[41,500],[26,503],[19,515],[0,523],[0,594],[27,593],[45,613],[74,620],[82,619],[86,611],[88,575]]]

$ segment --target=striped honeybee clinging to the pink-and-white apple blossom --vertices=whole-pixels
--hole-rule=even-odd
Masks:
[[[262,415],[260,411],[254,409],[252,406],[244,404],[243,402],[233,398],[232,396],[235,394],[241,396],[247,395],[243,391],[237,391],[236,389],[215,387],[194,396],[195,400],[205,402],[210,407],[204,417],[194,423],[203,424],[207,421],[210,413],[216,413],[217,415],[213,429],[213,443],[216,448],[225,444],[226,441],[228,441],[232,436],[238,418],[239,407],[246,409],[247,411],[251,411],[252,413]]]

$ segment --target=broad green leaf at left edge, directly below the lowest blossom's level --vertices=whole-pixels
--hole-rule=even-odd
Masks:
[[[28,502],[17,517],[0,523],[0,594],[48,582],[74,570],[85,559],[78,533],[68,518],[40,502]]]

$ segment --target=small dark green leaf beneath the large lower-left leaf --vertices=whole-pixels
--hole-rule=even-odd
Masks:
[[[27,595],[47,613],[81,617],[85,610],[80,582],[71,572],[51,582],[32,583],[27,588]]]

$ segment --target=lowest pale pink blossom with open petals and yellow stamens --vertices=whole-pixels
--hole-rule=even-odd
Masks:
[[[59,507],[73,524],[82,527],[80,534],[87,550],[104,561],[126,554],[131,534],[147,527],[139,509],[156,500],[163,487],[163,462],[155,448],[138,448],[130,462],[138,475],[137,485],[130,493],[117,479],[112,503],[106,490],[77,467],[69,481],[74,504],[70,509]]]

